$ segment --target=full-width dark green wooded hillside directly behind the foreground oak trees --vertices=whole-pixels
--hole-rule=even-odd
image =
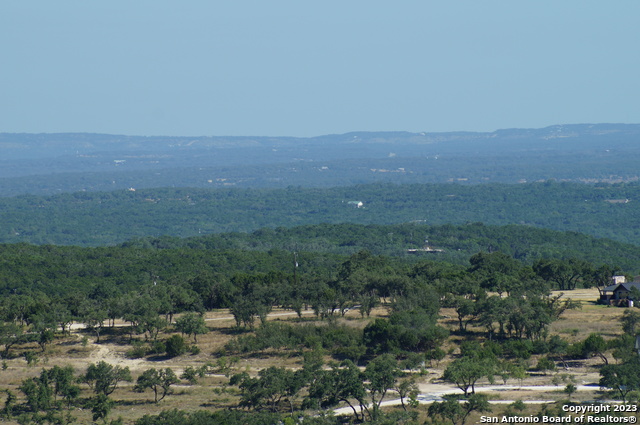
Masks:
[[[424,238],[438,253],[408,254]],[[524,264],[540,258],[578,258],[617,272],[640,272],[640,247],[575,232],[527,226],[311,225],[226,233],[188,239],[144,238],[114,247],[79,248],[0,244],[0,295],[42,291],[49,295],[100,290],[123,293],[158,279],[176,286],[217,282],[238,274],[292,273],[311,280],[330,278],[350,254],[366,249],[385,263],[408,271],[416,263],[447,261],[468,265],[480,251],[501,251]],[[296,253],[294,256],[294,252]],[[108,288],[108,289],[105,289]]]

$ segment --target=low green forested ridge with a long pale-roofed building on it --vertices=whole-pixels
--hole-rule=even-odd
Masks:
[[[428,246],[430,250],[424,248]],[[367,250],[375,255],[405,260],[447,261],[468,264],[478,252],[500,251],[533,264],[541,258],[580,258],[596,265],[609,264],[626,272],[640,272],[640,247],[577,232],[531,226],[487,226],[482,223],[429,226],[317,224],[261,229],[251,233],[222,233],[191,238],[141,238],[122,247],[144,249],[205,249],[351,255]]]

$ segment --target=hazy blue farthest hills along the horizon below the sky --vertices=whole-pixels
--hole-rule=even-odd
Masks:
[[[640,178],[640,125],[295,137],[0,133],[0,196],[134,187],[334,187]]]

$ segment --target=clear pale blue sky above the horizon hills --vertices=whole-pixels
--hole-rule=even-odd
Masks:
[[[640,123],[638,0],[3,0],[0,132]]]

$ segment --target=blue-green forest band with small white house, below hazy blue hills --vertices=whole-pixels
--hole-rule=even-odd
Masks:
[[[636,183],[553,181],[25,195],[0,199],[0,242],[98,246],[147,236],[187,237],[320,223],[482,222],[582,232],[638,245],[638,199]]]

